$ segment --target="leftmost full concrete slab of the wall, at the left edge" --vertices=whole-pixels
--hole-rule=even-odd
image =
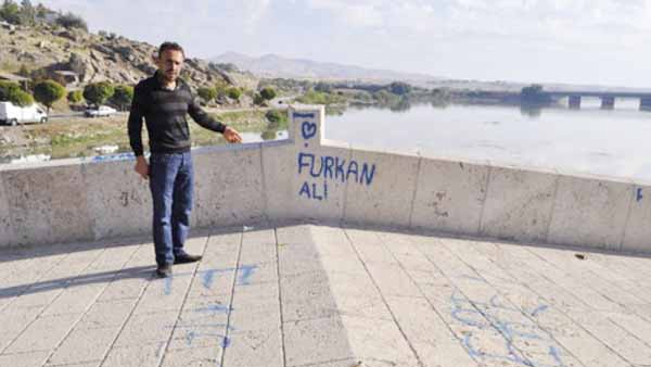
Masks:
[[[1,175],[17,237],[13,244],[94,238],[82,166],[3,170]]]

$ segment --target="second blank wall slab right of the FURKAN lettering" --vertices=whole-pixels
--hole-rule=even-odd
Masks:
[[[492,166],[481,236],[544,242],[551,220],[558,177],[556,172]]]

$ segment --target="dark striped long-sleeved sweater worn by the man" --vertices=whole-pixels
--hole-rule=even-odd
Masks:
[[[176,153],[190,150],[190,128],[186,115],[201,126],[224,132],[226,125],[205,113],[192,96],[190,87],[177,79],[175,90],[164,89],[158,72],[140,81],[133,90],[129,113],[129,140],[133,153],[142,155],[142,118],[146,123],[150,151]]]

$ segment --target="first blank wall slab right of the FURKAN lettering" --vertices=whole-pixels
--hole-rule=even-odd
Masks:
[[[411,226],[476,235],[487,181],[487,165],[423,156]]]

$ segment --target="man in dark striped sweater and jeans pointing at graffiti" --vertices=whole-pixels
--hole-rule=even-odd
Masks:
[[[240,134],[208,114],[195,101],[188,85],[179,79],[186,59],[174,42],[158,48],[156,73],[135,88],[129,114],[129,140],[136,154],[135,170],[149,179],[153,199],[153,237],[156,275],[171,276],[171,265],[201,260],[183,250],[190,228],[193,168],[190,129],[186,115],[201,126],[221,132],[229,142],[241,142]],[[150,144],[148,164],[142,148],[142,119],[146,123]]]

